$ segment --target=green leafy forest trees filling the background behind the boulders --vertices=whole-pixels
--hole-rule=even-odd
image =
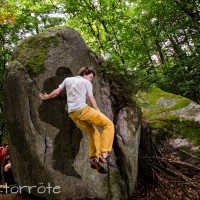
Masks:
[[[15,45],[63,25],[132,80],[133,93],[154,84],[200,102],[198,0],[0,0],[1,135],[4,72]]]

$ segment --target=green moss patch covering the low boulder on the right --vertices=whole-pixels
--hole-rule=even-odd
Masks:
[[[156,139],[160,141],[176,135],[177,137],[186,138],[196,146],[200,146],[200,124],[195,122],[194,116],[189,116],[190,109],[185,116],[179,115],[180,109],[187,108],[192,101],[174,94],[170,94],[153,87],[152,90],[143,94],[141,101],[143,118],[148,122],[148,127],[156,132]],[[158,101],[170,99],[175,103],[170,107],[159,104]],[[198,106],[198,105],[197,105]],[[184,111],[183,111],[184,112]]]

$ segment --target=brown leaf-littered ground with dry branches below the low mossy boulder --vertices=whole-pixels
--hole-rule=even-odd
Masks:
[[[138,181],[131,200],[199,200],[200,159],[180,161],[173,153],[155,152],[154,156],[139,157]]]

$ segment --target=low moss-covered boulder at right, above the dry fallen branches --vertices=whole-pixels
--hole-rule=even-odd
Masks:
[[[156,87],[143,99],[143,153],[151,154],[148,146],[153,138],[162,152],[173,159],[200,164],[200,105]]]

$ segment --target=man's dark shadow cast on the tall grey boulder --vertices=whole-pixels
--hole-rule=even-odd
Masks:
[[[73,74],[69,68],[60,67],[56,72],[56,76],[44,82],[43,92],[52,92],[66,77],[71,76]],[[65,105],[66,93],[63,91],[58,97],[42,102],[39,107],[39,116],[42,121],[60,130],[54,140],[53,160],[55,162],[53,168],[67,176],[80,178],[73,167],[73,163],[83,136],[68,116]],[[46,132],[46,134],[51,133]]]

